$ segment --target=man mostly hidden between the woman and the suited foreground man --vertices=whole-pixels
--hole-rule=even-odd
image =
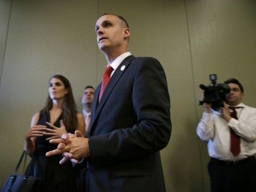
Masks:
[[[85,119],[85,134],[87,133],[90,120],[91,120],[91,104],[93,103],[93,95],[95,89],[88,85],[85,87],[84,93],[82,95],[81,103],[83,106],[83,115]]]

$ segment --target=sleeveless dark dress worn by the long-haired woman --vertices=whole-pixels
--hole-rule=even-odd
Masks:
[[[54,126],[60,127],[62,115],[55,121]],[[50,122],[47,113],[40,112],[38,125],[49,127],[46,122]],[[46,157],[46,152],[57,148],[57,144],[49,143],[47,137],[37,137],[37,149],[32,156],[27,174],[34,175],[42,179],[41,191],[47,192],[69,192],[76,191],[75,170],[71,162],[60,165],[62,155]]]

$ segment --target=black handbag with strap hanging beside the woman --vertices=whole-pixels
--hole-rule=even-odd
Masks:
[[[18,169],[25,156],[24,165],[26,165],[26,152],[21,154],[18,165],[16,165],[15,172],[5,181],[1,192],[35,192],[40,190],[40,178],[34,176],[18,175]]]

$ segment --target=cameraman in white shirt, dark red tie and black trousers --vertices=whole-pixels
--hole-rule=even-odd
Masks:
[[[244,90],[237,79],[224,83],[230,87],[224,107],[215,111],[204,102],[196,130],[201,140],[208,143],[211,190],[256,191],[256,108],[242,103]],[[233,110],[236,117],[232,116]],[[231,132],[238,140],[235,153],[230,149]]]

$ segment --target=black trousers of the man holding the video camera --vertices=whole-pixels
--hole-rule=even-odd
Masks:
[[[211,157],[208,163],[208,172],[212,192],[256,191],[256,160],[254,156],[238,162],[226,162]]]

